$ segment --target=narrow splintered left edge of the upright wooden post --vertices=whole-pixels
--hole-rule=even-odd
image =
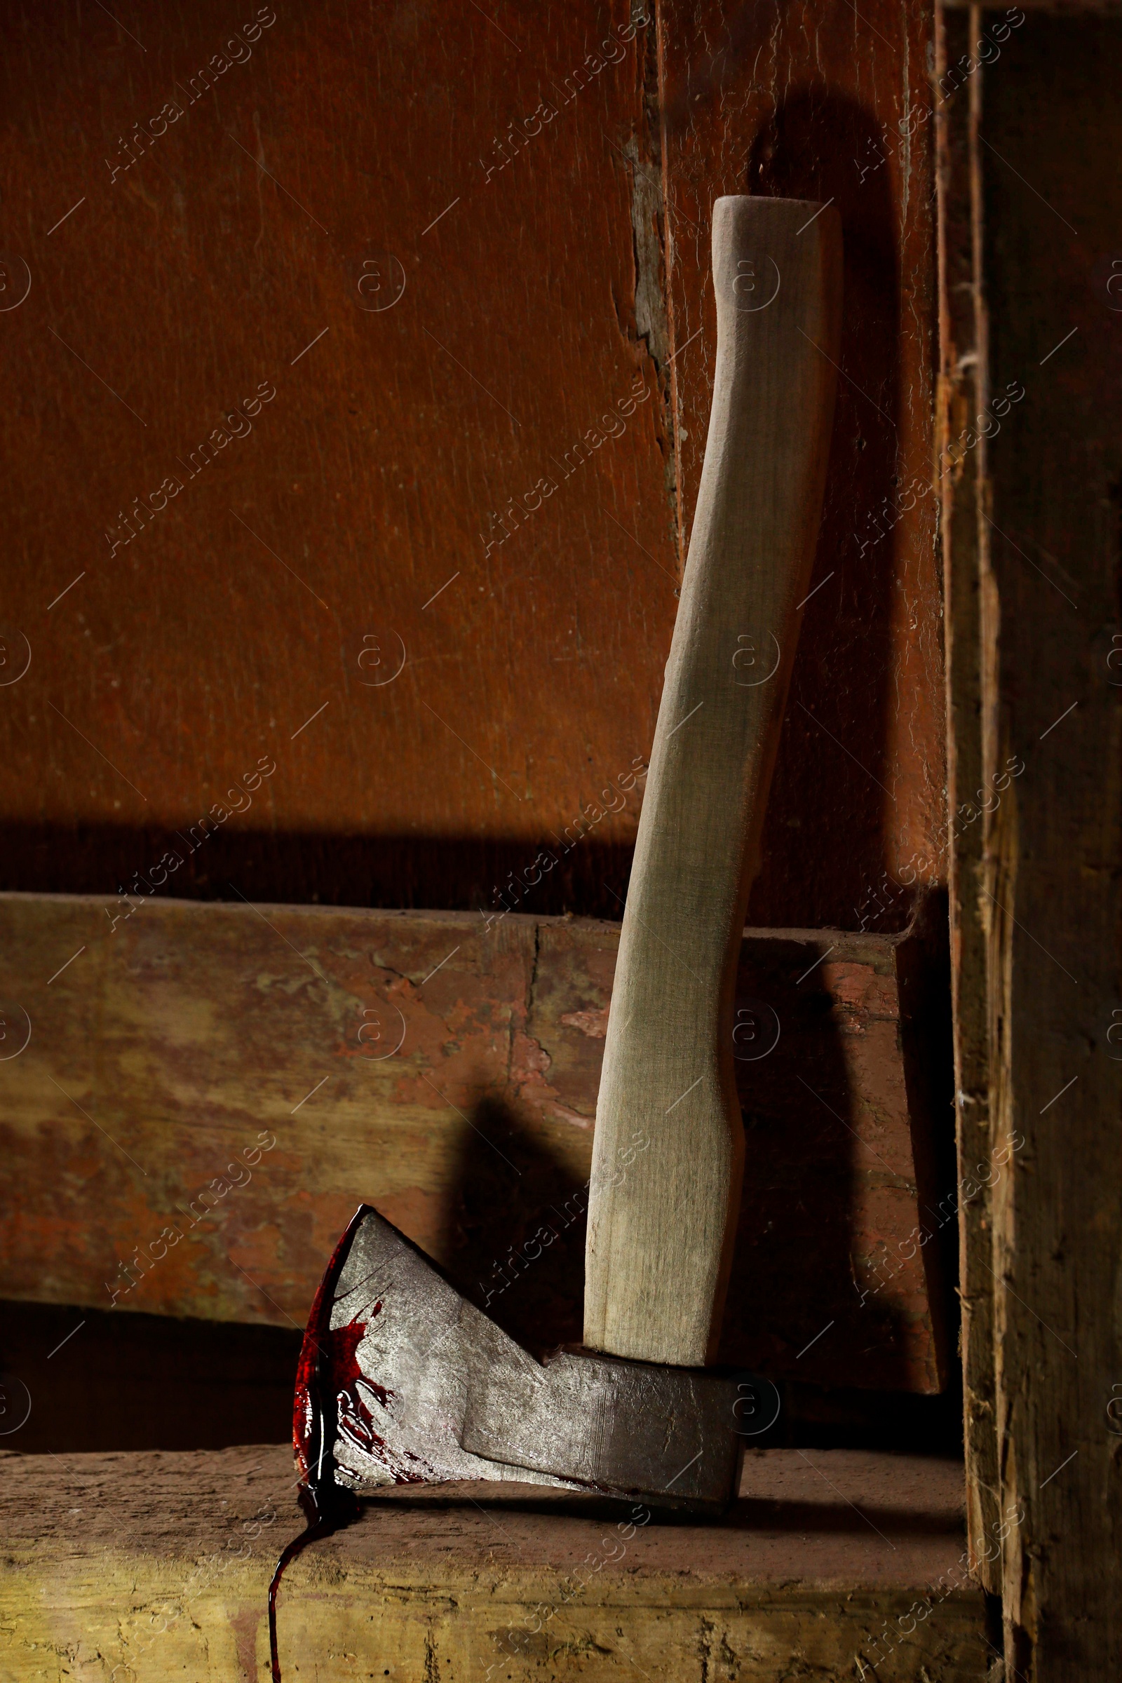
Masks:
[[[979,1547],[979,1572],[999,1594],[1001,1565],[981,1538],[998,1518],[998,1432],[994,1415],[994,1277],[987,1256],[992,1212],[977,1175],[992,1158],[989,1119],[991,1017],[986,985],[987,902],[982,882],[982,626],[992,638],[992,579],[986,520],[987,439],[979,422],[989,402],[986,296],[981,276],[982,77],[957,74],[977,42],[977,13],[939,13],[935,118],[939,136],[940,387],[935,490],[942,503],[947,648],[947,880],[954,993],[955,1118],[959,1178],[976,1176],[977,1193],[959,1218],[962,1304],[964,1432],[971,1479],[967,1530]],[[996,44],[998,50],[1001,44]],[[987,47],[986,50],[992,50]],[[967,439],[972,448],[966,448]]]

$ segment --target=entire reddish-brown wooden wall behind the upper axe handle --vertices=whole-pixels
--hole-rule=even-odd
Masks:
[[[786,190],[836,195],[851,313],[814,584],[834,576],[750,919],[856,924],[942,825],[932,515],[860,554],[930,454],[929,143],[885,140],[930,8],[673,3],[632,34],[653,0],[446,0],[439,24],[320,0],[224,54],[256,10],[0,19],[5,257],[32,276],[3,313],[3,621],[32,665],[2,690],[0,885],[128,884],[267,754],[180,894],[490,904],[649,752],[710,407],[710,209]],[[380,311],[378,249],[405,279]],[[192,476],[259,382],[276,397]],[[385,687],[365,634],[387,672],[405,646]],[[634,816],[532,911],[611,916]]]

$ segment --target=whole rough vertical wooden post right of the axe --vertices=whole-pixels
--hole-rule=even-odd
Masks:
[[[1122,24],[1014,29],[940,182],[947,362],[967,200],[987,295],[945,505],[959,1139],[991,1170],[962,1205],[967,1478],[1006,1678],[1077,1683],[1122,1651]]]

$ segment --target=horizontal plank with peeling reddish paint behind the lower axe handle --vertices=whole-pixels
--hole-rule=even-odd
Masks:
[[[367,1200],[516,1336],[579,1340],[617,939],[177,900],[113,931],[103,900],[0,897],[0,998],[32,1025],[0,1062],[3,1293],[303,1326]],[[722,1358],[937,1390],[937,954],[922,927],[749,931],[737,990],[759,1055]]]

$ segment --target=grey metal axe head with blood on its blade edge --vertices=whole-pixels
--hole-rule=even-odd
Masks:
[[[362,1205],[311,1308],[296,1457],[321,1511],[345,1491],[461,1479],[718,1511],[735,1489],[745,1378],[597,1351],[538,1362]]]

